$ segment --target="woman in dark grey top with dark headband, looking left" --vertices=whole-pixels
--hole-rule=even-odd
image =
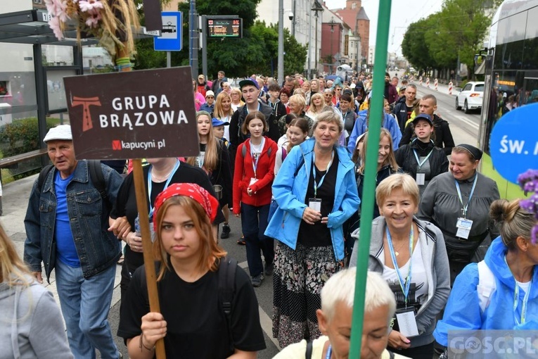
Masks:
[[[489,206],[499,199],[499,189],[497,183],[476,170],[480,158],[482,151],[475,146],[454,147],[450,171],[430,181],[418,207],[418,218],[434,223],[443,232],[451,283],[475,253],[475,259],[484,258],[482,242],[489,244],[499,234],[489,218]]]

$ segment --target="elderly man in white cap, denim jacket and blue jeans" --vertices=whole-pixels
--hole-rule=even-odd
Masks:
[[[94,186],[96,179],[89,175],[89,163],[75,159],[69,125],[53,127],[44,142],[54,167],[41,188],[36,180],[30,194],[25,262],[39,282],[41,262],[49,282],[56,268],[58,297],[75,358],[95,358],[95,349],[103,358],[119,358],[107,317],[121,246],[108,232],[104,201],[114,203],[122,177],[101,164],[107,194],[102,198]]]

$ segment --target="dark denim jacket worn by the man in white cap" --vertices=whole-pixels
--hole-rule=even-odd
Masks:
[[[108,201],[116,201],[122,177],[112,168],[101,164]],[[56,223],[56,189],[53,168],[46,176],[43,191],[37,188],[37,180],[28,201],[25,217],[26,241],[24,259],[32,272],[41,272],[41,261],[49,280],[56,264],[56,243],[54,225]],[[92,179],[95,180],[95,179]],[[89,181],[88,163],[79,160],[71,182],[66,189],[68,215],[75,247],[84,278],[102,272],[115,265],[121,256],[120,241],[108,232],[108,211],[101,194]],[[49,280],[50,282],[50,280]]]

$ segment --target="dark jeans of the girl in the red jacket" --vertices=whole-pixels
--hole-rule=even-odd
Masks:
[[[256,277],[264,270],[260,251],[264,253],[266,265],[273,263],[274,260],[274,240],[264,234],[267,228],[269,206],[267,204],[257,207],[241,203],[241,229],[247,243],[250,277]]]

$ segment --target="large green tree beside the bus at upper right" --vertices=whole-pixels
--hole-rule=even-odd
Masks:
[[[456,68],[457,58],[473,73],[474,56],[502,0],[446,0],[442,11],[409,25],[402,53],[418,69]]]

